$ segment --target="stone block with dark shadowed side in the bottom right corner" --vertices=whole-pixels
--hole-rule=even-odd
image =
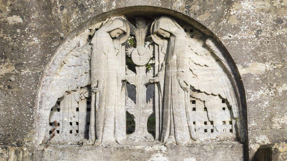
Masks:
[[[258,161],[287,160],[287,144],[276,143],[276,144],[261,145],[256,155]]]

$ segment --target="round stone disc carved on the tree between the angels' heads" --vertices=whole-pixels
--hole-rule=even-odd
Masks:
[[[131,52],[131,60],[133,60],[133,62],[136,65],[139,65],[139,66],[146,65],[150,59],[151,59],[151,56],[150,56],[150,51],[148,50],[148,48],[138,47],[138,48],[135,48]]]

